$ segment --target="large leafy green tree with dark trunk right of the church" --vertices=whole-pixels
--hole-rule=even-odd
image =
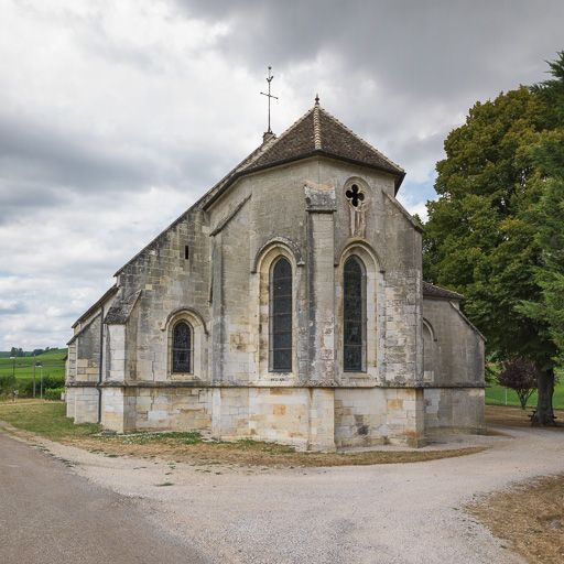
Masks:
[[[531,310],[544,300],[539,272],[551,237],[539,235],[549,181],[541,148],[558,131],[542,89],[520,87],[478,102],[447,137],[438,199],[427,205],[424,269],[431,281],[466,295],[465,312],[490,350],[535,361],[542,373],[535,419],[550,424],[560,345],[546,315]]]

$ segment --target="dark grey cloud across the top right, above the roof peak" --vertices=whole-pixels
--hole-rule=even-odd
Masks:
[[[562,35],[564,3],[525,0],[434,2],[203,2],[178,0],[186,13],[225,20],[225,54],[246,65],[290,69],[326,50],[343,59],[343,78],[362,70],[390,93],[414,98],[497,90],[536,75]],[[517,65],[517,67],[516,67]],[[350,84],[351,98],[355,83]]]

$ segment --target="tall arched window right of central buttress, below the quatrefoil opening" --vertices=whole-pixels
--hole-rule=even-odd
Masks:
[[[343,368],[360,372],[365,369],[366,282],[364,264],[355,256],[345,262],[343,321]]]

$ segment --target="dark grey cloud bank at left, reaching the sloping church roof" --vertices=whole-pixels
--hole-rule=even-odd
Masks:
[[[58,124],[0,115],[0,225],[21,220],[24,209],[46,210],[73,196],[108,193],[119,204],[128,193],[155,184],[184,185],[187,193],[207,189],[229,160],[225,153],[217,159],[214,147],[200,143],[171,148],[161,164],[159,140],[143,141],[139,156],[131,156],[120,151],[120,139],[100,148],[79,131],[57,129]],[[147,156],[151,153],[153,159]]]

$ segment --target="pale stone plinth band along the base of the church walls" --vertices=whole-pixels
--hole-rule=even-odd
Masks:
[[[484,390],[139,386],[104,387],[101,424],[118,433],[206,431],[303,451],[405,444],[422,446],[438,427],[484,426]],[[480,403],[481,402],[481,403]],[[98,390],[67,388],[67,416],[96,422]]]

